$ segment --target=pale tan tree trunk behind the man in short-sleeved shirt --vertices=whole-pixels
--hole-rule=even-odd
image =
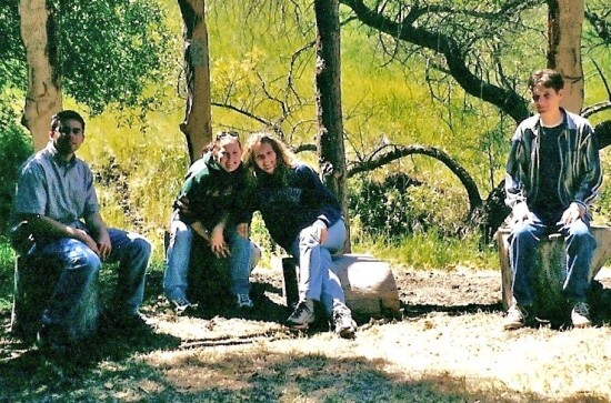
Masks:
[[[34,151],[49,141],[51,117],[62,110],[57,26],[46,0],[20,0],[21,38],[28,64],[28,93],[21,117]]]

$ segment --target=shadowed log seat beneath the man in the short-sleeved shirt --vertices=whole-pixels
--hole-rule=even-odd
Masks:
[[[57,265],[40,258],[17,256],[11,333],[26,342],[34,342],[41,316],[60,275]],[[98,282],[86,290],[86,298],[70,323],[68,337],[77,341],[92,335],[99,315]]]

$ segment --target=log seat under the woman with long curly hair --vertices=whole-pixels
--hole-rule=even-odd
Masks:
[[[365,254],[344,254],[333,259],[335,274],[340,279],[345,304],[360,322],[369,319],[398,316],[399,291],[392,270],[387,262]],[[297,268],[292,258],[282,260],[284,296],[287,306],[298,299]]]

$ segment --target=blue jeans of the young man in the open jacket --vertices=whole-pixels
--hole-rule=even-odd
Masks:
[[[578,220],[570,225],[545,225],[532,214],[533,223],[515,225],[510,234],[509,259],[513,271],[513,296],[522,305],[533,302],[533,268],[537,248],[541,236],[560,233],[567,244],[567,266],[563,272],[562,291],[573,302],[585,301],[590,288],[590,262],[595,241],[590,232],[590,223]]]

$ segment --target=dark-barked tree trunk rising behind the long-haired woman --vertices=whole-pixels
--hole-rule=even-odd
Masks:
[[[314,0],[317,20],[315,100],[322,181],[337,195],[347,225],[345,152],[341,111],[340,19],[338,0]],[[350,234],[350,231],[348,231]],[[350,252],[350,235],[344,252]]]

